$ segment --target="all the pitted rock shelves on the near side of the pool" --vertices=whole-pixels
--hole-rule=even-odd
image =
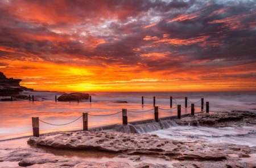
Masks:
[[[175,119],[180,125],[206,127],[253,126],[255,113],[230,111]],[[123,133],[103,131],[52,132],[27,141],[33,148],[2,148],[0,162],[18,162],[27,167],[255,167],[256,147],[229,143],[209,143],[203,140],[170,140],[150,133]],[[36,148],[34,148],[36,147]],[[48,153],[40,147],[61,150],[98,150],[114,153],[123,161],[90,162],[82,158],[69,158]],[[154,156],[170,163],[145,163],[142,157]]]

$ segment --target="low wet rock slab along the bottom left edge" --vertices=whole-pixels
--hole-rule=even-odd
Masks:
[[[42,149],[32,149],[32,148],[19,148],[19,149],[0,149],[0,162],[8,161],[8,162],[18,162],[16,167],[76,167],[76,168],[117,168],[117,167],[151,167],[151,168],[160,168],[166,167],[167,165],[159,165],[159,164],[150,164],[150,163],[140,163],[138,162],[135,166],[130,166],[129,163],[126,162],[89,162],[86,159],[72,159],[63,156],[55,156],[51,153],[46,153]]]

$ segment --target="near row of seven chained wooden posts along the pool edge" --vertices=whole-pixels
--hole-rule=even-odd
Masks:
[[[209,102],[206,102],[209,113]],[[155,122],[159,122],[158,106],[154,107]],[[191,104],[191,115],[195,115],[195,104]],[[177,119],[181,119],[181,105],[177,105]],[[127,109],[122,109],[122,122],[128,124]],[[39,117],[32,117],[33,136],[39,137]],[[82,113],[82,130],[88,131],[88,113]]]

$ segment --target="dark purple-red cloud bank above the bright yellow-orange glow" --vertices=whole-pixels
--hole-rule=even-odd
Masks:
[[[225,66],[256,61],[256,7],[251,1],[2,1],[0,5],[0,59],[72,63],[76,58],[96,65],[143,64],[150,71],[192,68],[195,63],[189,62],[196,61],[207,67],[209,63],[201,63],[204,60]]]

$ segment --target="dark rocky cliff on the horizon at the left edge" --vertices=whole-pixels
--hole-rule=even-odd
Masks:
[[[7,78],[3,72],[0,72],[0,96],[13,96],[22,91],[33,91],[19,85],[21,79]]]

